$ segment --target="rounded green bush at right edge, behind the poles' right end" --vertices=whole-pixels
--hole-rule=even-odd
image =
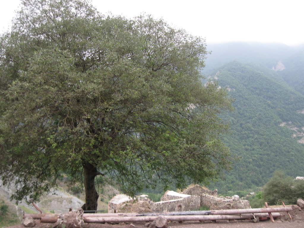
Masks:
[[[264,199],[270,204],[296,204],[297,199],[304,198],[304,181],[286,176],[282,171],[276,171],[264,186]]]

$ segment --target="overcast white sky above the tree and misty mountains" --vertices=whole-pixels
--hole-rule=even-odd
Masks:
[[[5,31],[20,0],[0,0],[0,31]],[[99,12],[128,18],[141,13],[163,18],[207,43],[230,41],[304,43],[303,0],[92,0]]]

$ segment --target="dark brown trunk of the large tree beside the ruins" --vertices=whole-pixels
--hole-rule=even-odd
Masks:
[[[83,163],[85,176],[85,204],[84,211],[97,210],[98,193],[95,189],[95,177],[99,174],[96,167],[88,162]]]

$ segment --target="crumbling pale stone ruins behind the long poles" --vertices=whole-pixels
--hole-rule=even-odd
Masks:
[[[199,185],[192,185],[183,192],[167,191],[161,201],[153,202],[147,195],[135,199],[127,195],[116,195],[109,201],[109,213],[126,212],[172,212],[198,210],[201,206],[210,210],[250,208],[248,200],[238,197],[218,197],[217,190],[210,191]]]

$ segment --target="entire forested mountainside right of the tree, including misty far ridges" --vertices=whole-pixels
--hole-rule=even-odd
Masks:
[[[256,190],[275,170],[304,176],[304,48],[283,44],[225,43],[212,50],[203,74],[235,98],[224,136],[240,156],[225,180],[211,184],[225,194]]]

